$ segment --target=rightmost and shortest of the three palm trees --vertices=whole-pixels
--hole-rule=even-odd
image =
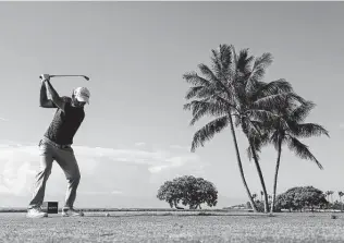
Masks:
[[[274,209],[282,145],[287,144],[288,148],[293,150],[296,156],[300,157],[302,159],[312,160],[320,169],[323,169],[321,163],[310,153],[308,146],[303,144],[298,138],[322,134],[329,136],[329,132],[321,125],[315,123],[303,123],[315,105],[311,101],[302,99],[300,97],[298,97],[297,100],[294,98],[295,97],[291,99],[288,96],[285,96],[281,100],[282,102],[278,106],[275,111],[278,117],[274,117],[265,123],[266,129],[269,130],[271,134],[269,139],[278,150],[271,212],[273,212]]]

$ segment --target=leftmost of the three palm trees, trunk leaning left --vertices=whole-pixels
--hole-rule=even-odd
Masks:
[[[242,58],[239,57],[239,59]],[[206,64],[198,65],[202,76],[199,76],[196,72],[189,72],[183,75],[184,80],[193,85],[188,89],[185,98],[195,98],[195,100],[184,105],[185,110],[192,110],[193,112],[193,119],[189,124],[194,125],[200,118],[207,114],[216,117],[214,120],[207,123],[195,133],[191,150],[195,151],[198,146],[204,146],[206,141],[211,139],[216,133],[220,133],[230,124],[241,178],[251,207],[254,211],[257,212],[256,204],[245,179],[232,118],[235,104],[233,102],[234,95],[231,81],[233,80],[234,74],[239,72],[241,65],[233,63],[231,48],[226,45],[220,46],[220,51],[212,50],[211,60],[212,69],[208,68]],[[233,65],[235,68],[234,74],[231,72]]]

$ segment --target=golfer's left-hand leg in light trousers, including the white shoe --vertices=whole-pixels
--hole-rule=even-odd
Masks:
[[[33,198],[27,207],[28,217],[46,217],[47,215],[40,211],[40,206],[45,198],[46,184],[51,173],[53,157],[50,145],[39,145],[39,172],[35,177],[35,189]]]

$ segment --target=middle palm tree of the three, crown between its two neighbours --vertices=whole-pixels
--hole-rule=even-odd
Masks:
[[[261,57],[254,59],[254,57],[248,57],[247,49],[244,49],[239,57],[243,57],[239,63],[245,63],[246,68],[241,72],[241,76],[232,82],[236,102],[233,116],[235,117],[235,125],[242,127],[248,139],[248,158],[253,158],[255,161],[262,187],[261,195],[265,197],[265,212],[268,212],[268,193],[258,156],[261,147],[268,142],[268,132],[262,127],[267,121],[274,119],[275,113],[273,111],[277,110],[285,96],[288,96],[292,100],[302,100],[302,98],[293,92],[291,84],[283,78],[270,83],[261,81],[266,69],[272,63],[270,53],[263,53]],[[250,68],[251,63],[253,68]]]

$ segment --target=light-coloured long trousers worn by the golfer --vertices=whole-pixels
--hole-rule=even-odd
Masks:
[[[59,163],[67,180],[64,208],[73,208],[81,181],[74,150],[70,145],[58,146],[46,137],[39,142],[39,172],[35,177],[35,189],[28,208],[41,206],[53,161]]]

